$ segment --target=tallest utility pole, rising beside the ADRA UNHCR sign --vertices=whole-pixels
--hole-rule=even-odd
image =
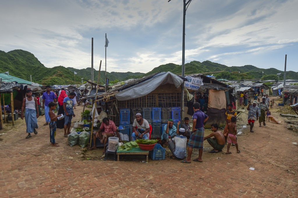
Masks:
[[[170,2],[171,0],[168,0]],[[182,31],[182,72],[181,77],[185,76],[185,15],[188,5],[192,0],[183,0],[183,31]],[[186,7],[187,6],[187,7]],[[184,121],[184,82],[181,85],[181,123]]]

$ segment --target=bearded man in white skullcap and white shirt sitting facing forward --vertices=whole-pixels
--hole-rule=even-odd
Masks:
[[[132,141],[135,141],[136,139],[146,139],[146,140],[149,139],[150,126],[148,121],[142,118],[141,113],[136,114],[136,119],[134,119],[132,128],[134,131],[131,134]]]

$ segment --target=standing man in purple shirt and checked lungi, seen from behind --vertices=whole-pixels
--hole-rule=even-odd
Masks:
[[[208,120],[208,116],[200,110],[200,103],[193,103],[193,133],[190,135],[188,141],[188,155],[187,158],[182,160],[182,163],[191,163],[191,154],[193,149],[199,149],[199,157],[194,159],[195,162],[203,162],[203,144],[204,144],[204,123]]]

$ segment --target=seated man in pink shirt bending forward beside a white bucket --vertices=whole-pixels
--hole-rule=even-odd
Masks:
[[[101,123],[99,130],[96,133],[93,133],[93,146],[89,148],[89,150],[96,149],[96,138],[100,139],[100,142],[104,144],[103,147],[103,155],[105,154],[105,144],[108,142],[109,137],[114,137],[115,132],[120,139],[120,135],[117,131],[117,127],[115,123],[112,120],[109,120],[108,118],[104,118],[103,122]]]

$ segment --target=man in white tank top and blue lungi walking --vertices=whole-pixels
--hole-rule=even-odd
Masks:
[[[37,99],[35,97],[32,97],[32,91],[31,89],[27,90],[27,97],[23,99],[23,105],[22,105],[22,112],[21,112],[21,119],[24,119],[24,109],[25,111],[25,121],[26,121],[26,132],[28,133],[26,138],[31,138],[31,133],[34,132],[34,134],[37,134],[37,131],[35,128],[38,128],[37,125],[37,118],[39,116],[38,112],[38,104]]]

